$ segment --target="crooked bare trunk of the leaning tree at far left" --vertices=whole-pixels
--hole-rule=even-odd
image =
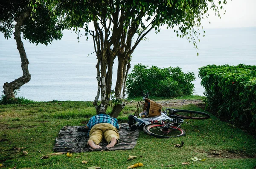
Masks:
[[[15,95],[14,91],[17,89],[20,89],[20,86],[22,86],[25,83],[28,83],[29,80],[31,79],[31,75],[29,74],[29,60],[26,57],[26,52],[23,46],[23,43],[21,41],[21,26],[23,25],[23,20],[29,17],[29,11],[26,11],[19,16],[17,16],[15,19],[17,21],[15,25],[15,32],[14,32],[14,39],[16,40],[17,43],[17,49],[20,53],[20,58],[21,58],[21,69],[23,71],[23,76],[19,77],[18,79],[8,83],[4,83],[3,85],[3,93],[6,95],[7,100],[15,100]]]

